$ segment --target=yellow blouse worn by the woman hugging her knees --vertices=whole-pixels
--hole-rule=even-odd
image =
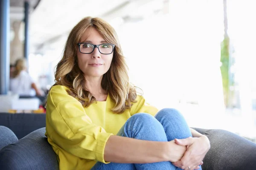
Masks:
[[[116,135],[135,113],[154,116],[158,111],[139,95],[131,110],[122,114],[111,111],[114,103],[109,96],[84,108],[66,90],[62,85],[51,88],[46,111],[45,135],[58,156],[60,170],[90,170],[96,161],[109,163],[104,160],[109,136]]]

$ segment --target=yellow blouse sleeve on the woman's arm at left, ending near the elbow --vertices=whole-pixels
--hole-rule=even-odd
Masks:
[[[93,124],[81,103],[64,86],[53,86],[47,97],[47,136],[63,150],[83,159],[104,160],[106,142],[112,133]]]

